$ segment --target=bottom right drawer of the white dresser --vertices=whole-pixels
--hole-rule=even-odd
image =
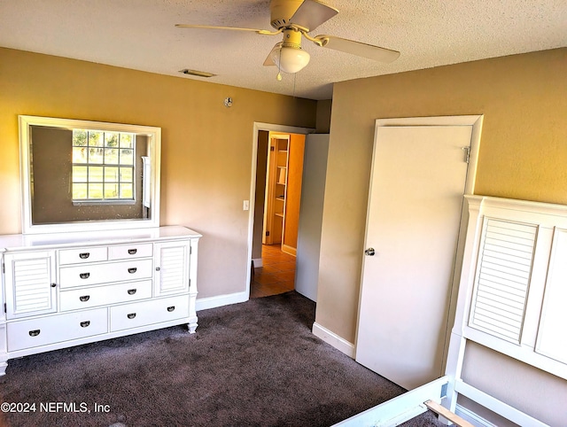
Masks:
[[[125,306],[110,307],[110,329],[112,332],[127,330],[188,316],[188,295],[166,299],[152,299]]]

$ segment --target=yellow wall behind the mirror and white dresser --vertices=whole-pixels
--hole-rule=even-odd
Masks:
[[[233,106],[223,104],[233,98]],[[161,223],[199,245],[198,298],[245,291],[253,122],[315,128],[317,103],[0,49],[0,234],[19,233],[18,115],[162,128]]]

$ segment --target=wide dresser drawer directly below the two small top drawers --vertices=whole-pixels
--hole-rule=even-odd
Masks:
[[[152,260],[126,260],[62,267],[59,268],[59,285],[65,289],[124,280],[149,279],[152,274],[152,262]]]

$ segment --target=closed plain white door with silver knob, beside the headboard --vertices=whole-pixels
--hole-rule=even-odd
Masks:
[[[444,368],[471,134],[472,126],[377,127],[356,361],[408,390]]]

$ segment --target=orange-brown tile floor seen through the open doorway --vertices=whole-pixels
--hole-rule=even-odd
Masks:
[[[262,267],[252,273],[250,298],[293,291],[294,279],[295,257],[282,252],[280,245],[262,245]]]

